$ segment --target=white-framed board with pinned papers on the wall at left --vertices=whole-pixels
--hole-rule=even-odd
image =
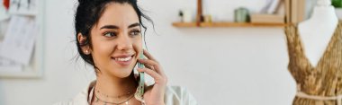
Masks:
[[[44,68],[44,0],[0,4],[0,78],[40,78]]]

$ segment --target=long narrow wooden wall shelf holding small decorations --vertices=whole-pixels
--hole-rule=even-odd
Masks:
[[[175,27],[284,27],[286,23],[250,23],[250,22],[174,22]]]

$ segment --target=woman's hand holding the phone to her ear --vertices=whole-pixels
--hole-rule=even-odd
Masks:
[[[144,64],[145,68],[138,68],[139,72],[145,72],[154,78],[155,84],[148,86],[144,93],[144,100],[147,105],[164,105],[164,93],[166,89],[167,78],[159,63],[144,49],[144,55],[148,59],[138,59],[138,62]]]

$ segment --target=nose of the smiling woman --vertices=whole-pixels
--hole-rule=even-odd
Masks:
[[[132,45],[132,40],[130,39],[129,35],[127,34],[122,34],[122,35],[119,35],[119,39],[117,40],[117,48],[119,50],[128,50],[128,49],[131,49],[133,48],[133,45]]]

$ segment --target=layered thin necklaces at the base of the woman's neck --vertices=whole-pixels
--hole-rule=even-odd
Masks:
[[[134,93],[133,92],[127,92],[126,94],[122,94],[122,95],[118,95],[118,96],[111,96],[108,94],[104,94],[102,92],[100,92],[99,90],[94,91],[94,101],[95,102],[101,102],[103,103],[103,105],[121,105],[121,104],[125,104],[125,105],[129,105],[129,101],[131,98],[134,97]],[[114,102],[114,101],[105,101],[101,98],[99,98],[99,96],[101,96],[101,98],[105,97],[106,100],[108,100],[109,98],[115,99],[116,101],[119,102]],[[124,98],[125,96],[128,96],[125,100],[120,101],[121,98]]]

